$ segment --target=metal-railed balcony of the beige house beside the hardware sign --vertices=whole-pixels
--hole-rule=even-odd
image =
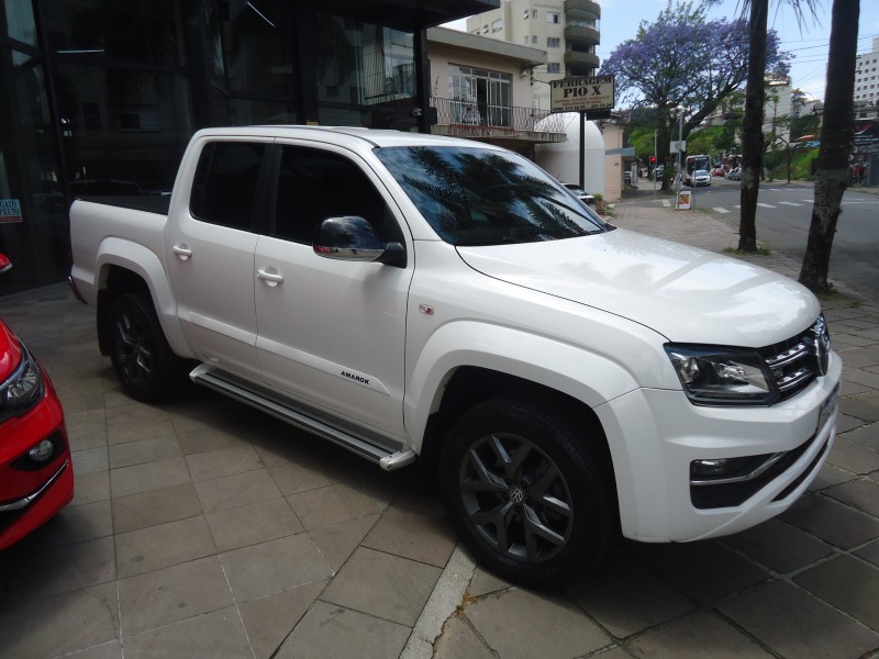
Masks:
[[[431,99],[436,109],[434,135],[449,135],[502,144],[516,149],[527,144],[565,142],[565,124],[560,114],[533,108],[491,103]]]

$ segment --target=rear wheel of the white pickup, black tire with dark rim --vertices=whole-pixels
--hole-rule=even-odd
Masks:
[[[145,293],[125,293],[110,308],[110,358],[122,388],[131,398],[157,401],[183,381],[183,360],[165,338],[153,301]]]

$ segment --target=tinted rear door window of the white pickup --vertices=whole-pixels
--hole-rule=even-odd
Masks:
[[[256,182],[266,145],[212,142],[199,157],[189,211],[211,224],[251,230]]]

